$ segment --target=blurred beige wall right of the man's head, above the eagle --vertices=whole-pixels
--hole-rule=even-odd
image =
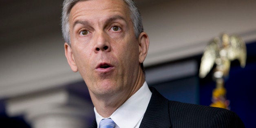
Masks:
[[[140,6],[150,37],[146,66],[200,54],[223,32],[256,39],[255,0],[151,0]]]

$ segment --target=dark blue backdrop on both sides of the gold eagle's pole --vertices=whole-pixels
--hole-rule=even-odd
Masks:
[[[246,128],[256,128],[256,42],[247,44],[245,68],[241,68],[238,61],[232,63],[230,76],[225,82],[230,109],[238,114]],[[201,80],[200,104],[209,106],[215,83],[205,81]]]

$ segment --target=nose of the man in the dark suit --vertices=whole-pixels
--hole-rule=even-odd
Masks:
[[[111,47],[109,44],[110,38],[108,37],[108,35],[106,33],[104,33],[104,32],[97,33],[97,35],[95,37],[96,37],[95,47],[94,47],[95,53],[98,53],[100,51],[109,52],[111,50]]]

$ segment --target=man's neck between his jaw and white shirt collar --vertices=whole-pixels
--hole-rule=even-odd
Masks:
[[[99,113],[99,115],[105,118],[110,117],[110,115],[112,115],[112,113],[114,113],[115,110],[117,110],[117,108],[124,104],[124,102],[126,102],[127,99],[129,99],[134,93],[137,92],[137,90],[139,90],[139,88],[141,88],[144,82],[145,76],[141,68],[139,68],[138,77],[129,91],[124,90],[124,92],[117,92],[115,95],[112,95],[107,98],[99,98],[90,93],[90,97],[97,110],[97,113]]]

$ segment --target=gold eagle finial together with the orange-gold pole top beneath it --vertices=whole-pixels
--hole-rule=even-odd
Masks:
[[[226,99],[224,78],[229,75],[230,62],[238,59],[241,67],[246,63],[246,45],[238,36],[223,34],[221,39],[214,38],[206,46],[201,58],[199,77],[204,78],[212,69],[214,64],[213,78],[216,88],[212,91],[212,104],[210,106],[230,109],[230,101]]]

